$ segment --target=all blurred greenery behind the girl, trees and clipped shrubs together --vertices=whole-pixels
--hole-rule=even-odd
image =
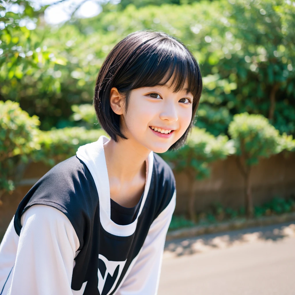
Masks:
[[[236,153],[253,215],[251,165],[294,150],[294,1],[104,1],[97,16],[59,25],[45,22],[48,5],[11,2],[14,11],[7,11],[9,1],[0,4],[2,193],[13,191],[16,167],[22,171],[32,160],[54,165],[102,134],[92,106],[101,64],[127,34],[149,28],[179,38],[204,82],[191,140],[163,158],[201,179],[210,174],[209,162]]]

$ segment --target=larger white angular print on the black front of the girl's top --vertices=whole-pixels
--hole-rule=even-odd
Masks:
[[[98,255],[99,258],[99,268],[101,268],[101,271],[103,273],[101,273],[101,271],[98,269],[97,271],[97,276],[98,276],[98,291],[99,294],[102,294],[102,291],[104,289],[104,284],[106,282],[106,278],[108,276],[108,274],[113,277],[114,283],[111,287],[111,289],[109,290],[109,292],[107,294],[110,294],[113,289],[115,288],[117,281],[119,280],[119,277],[121,276],[121,273],[123,271],[124,265],[127,261],[127,259],[125,261],[109,261],[107,260],[107,258],[105,258],[103,255],[99,254]],[[118,269],[119,267],[119,269]],[[114,275],[116,277],[114,277]]]

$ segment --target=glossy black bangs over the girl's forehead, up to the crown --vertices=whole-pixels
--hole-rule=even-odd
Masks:
[[[164,85],[172,76],[173,92],[184,90],[187,83],[187,94],[191,92],[195,98],[202,86],[198,64],[189,50],[181,42],[164,39],[162,35],[137,47],[122,68],[130,74],[117,81],[117,89],[122,91]]]

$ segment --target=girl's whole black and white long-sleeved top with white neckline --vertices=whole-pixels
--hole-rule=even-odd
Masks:
[[[151,151],[136,219],[114,223],[107,140],[79,147],[24,196],[0,245],[1,295],[157,294],[175,178]]]

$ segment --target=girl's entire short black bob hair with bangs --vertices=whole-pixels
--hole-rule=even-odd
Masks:
[[[180,148],[195,123],[203,88],[202,77],[194,55],[180,40],[162,31],[145,29],[133,32],[107,55],[99,70],[94,94],[94,108],[101,127],[115,142],[118,141],[117,136],[127,139],[120,130],[120,116],[110,106],[112,87],[116,87],[125,98],[124,109],[127,111],[132,89],[164,85],[173,74],[173,92],[183,90],[187,82],[187,93],[193,95],[191,123],[169,150]]]

